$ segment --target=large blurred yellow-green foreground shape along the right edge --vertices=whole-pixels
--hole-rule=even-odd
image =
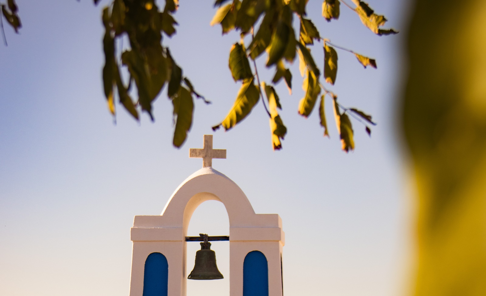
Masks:
[[[402,127],[418,192],[414,295],[486,295],[486,1],[416,2]]]

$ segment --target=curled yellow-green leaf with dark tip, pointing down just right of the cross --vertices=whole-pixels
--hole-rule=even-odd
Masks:
[[[221,125],[228,130],[234,127],[238,122],[241,122],[257,104],[260,99],[260,92],[258,87],[253,84],[253,78],[243,81],[243,85],[238,92],[235,104],[226,115],[226,118],[220,124],[213,126],[213,130],[217,130]]]

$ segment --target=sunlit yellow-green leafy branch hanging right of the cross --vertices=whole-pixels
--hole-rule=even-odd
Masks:
[[[275,1],[272,5],[268,5],[265,1],[260,0],[233,0],[231,3],[223,5],[227,0],[217,0],[215,6],[219,6],[211,25],[221,24],[222,34],[227,34],[232,30],[237,30],[242,36],[251,32],[251,43],[247,49],[243,48],[243,44],[236,43],[233,45],[229,56],[229,68],[235,81],[237,78],[249,79],[253,77],[249,69],[249,59],[253,60],[256,69],[256,59],[261,56],[263,52],[267,52],[266,67],[274,68],[275,76],[272,79],[272,84],[277,84],[282,78],[285,78],[285,83],[292,91],[292,73],[286,68],[286,64],[291,64],[298,53],[300,61],[300,73],[303,76],[303,89],[305,96],[300,100],[298,106],[298,113],[303,117],[309,117],[317,103],[319,94],[324,91],[321,96],[319,105],[320,124],[324,127],[324,135],[329,136],[326,123],[326,116],[324,112],[324,99],[327,94],[333,99],[334,115],[338,132],[343,142],[343,150],[348,152],[354,149],[353,130],[352,125],[347,114],[363,123],[366,127],[366,132],[371,133],[368,124],[375,125],[371,121],[371,116],[356,108],[346,108],[337,102],[337,95],[324,87],[320,83],[321,73],[325,81],[331,85],[336,82],[337,76],[337,52],[335,50],[344,50],[356,56],[361,65],[366,68],[370,66],[377,68],[376,60],[361,55],[357,52],[347,48],[337,46],[320,36],[318,29],[315,27],[311,19],[306,18],[305,0],[281,0]],[[383,30],[381,27],[386,19],[382,16],[374,14],[374,11],[369,6],[358,0],[353,0],[356,8],[353,9],[362,19],[363,24],[377,35],[395,34],[392,29]],[[322,3],[322,15],[328,21],[339,18],[339,0],[324,0]],[[364,15],[363,15],[364,12]],[[300,28],[297,31],[293,27],[293,16],[296,15],[299,19]],[[258,30],[255,30],[255,23],[262,17]],[[376,28],[375,28],[376,27]],[[256,34],[253,34],[256,31]],[[295,38],[295,32],[298,32],[298,39]],[[324,42],[324,71],[321,72],[316,66],[311,54],[309,45],[314,44],[314,40]],[[274,149],[280,149],[281,143],[279,139],[285,136],[281,131],[285,127],[278,116],[277,109],[281,108],[275,88],[267,85],[265,82],[260,83],[260,77],[257,75],[258,84],[265,89],[269,108],[267,109],[264,102],[264,107],[269,113],[271,122],[270,130],[272,132]],[[242,89],[245,87],[243,80]],[[263,98],[263,93],[257,93]],[[276,98],[276,99],[275,99]],[[241,122],[251,112],[253,106],[258,102],[259,98],[248,100],[248,97],[242,97],[242,90],[237,96],[237,100],[233,108],[229,111],[225,120],[213,127],[217,129],[220,126],[225,127],[226,130],[233,128],[236,124]],[[251,101],[251,102],[250,102]],[[273,103],[275,102],[275,103]],[[251,103],[251,104],[250,104]],[[275,104],[275,108],[272,108]],[[341,110],[342,112],[341,112]],[[278,122],[272,120],[277,118]],[[231,120],[230,120],[231,119]],[[286,131],[286,129],[285,129]],[[278,136],[277,139],[275,139]],[[281,137],[280,137],[281,136]]]

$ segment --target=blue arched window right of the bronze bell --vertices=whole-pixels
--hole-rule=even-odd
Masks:
[[[268,296],[268,262],[260,251],[251,251],[244,258],[243,296]]]

